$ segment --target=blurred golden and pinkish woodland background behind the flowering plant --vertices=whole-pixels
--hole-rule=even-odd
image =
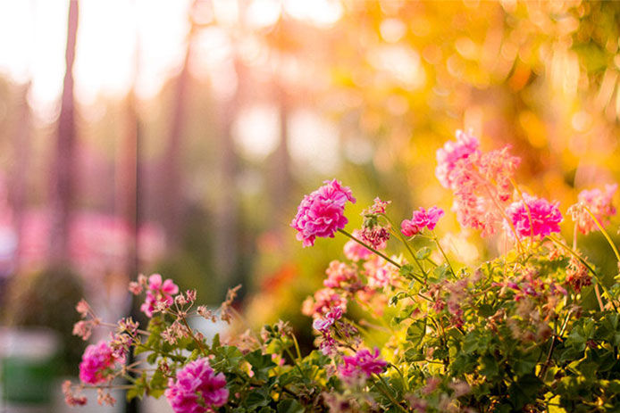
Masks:
[[[620,2],[1,0],[0,354],[76,376],[75,303],[114,321],[152,272],[214,306],[243,284],[250,326],[289,319],[309,348],[300,302],[345,240],[302,250],[303,194],[350,186],[350,229],[375,196],[398,222],[449,211],[435,152],[471,128],[566,211],[620,174],[619,28]],[[465,264],[498,250],[450,214],[440,232]]]

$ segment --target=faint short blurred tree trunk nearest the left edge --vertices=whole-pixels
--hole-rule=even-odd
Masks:
[[[22,242],[22,223],[24,210],[26,209],[26,188],[28,187],[28,167],[30,157],[30,127],[31,113],[28,104],[30,81],[21,87],[19,96],[19,109],[17,129],[13,135],[13,174],[9,183],[9,196],[11,209],[13,210],[13,226],[17,234],[17,248],[13,258],[13,271],[20,270],[20,255]]]

